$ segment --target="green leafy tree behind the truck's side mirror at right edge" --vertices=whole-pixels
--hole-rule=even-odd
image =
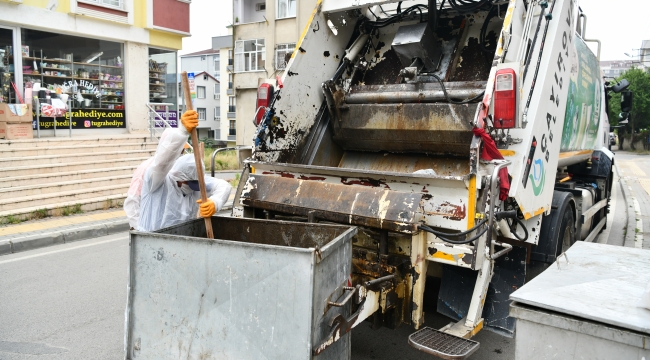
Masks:
[[[645,129],[650,127],[650,72],[641,69],[631,68],[621,74],[616,81],[627,79],[630,82],[628,89],[632,91],[632,111],[630,111],[630,146],[634,149],[634,131],[635,129]],[[618,125],[618,114],[621,112],[621,96],[612,94],[609,99],[609,120],[612,125]],[[623,136],[626,127],[620,128],[619,139],[621,147],[623,146]]]

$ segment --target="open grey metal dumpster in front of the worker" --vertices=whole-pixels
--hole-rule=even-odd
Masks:
[[[345,297],[356,228],[213,217],[131,232],[127,359],[349,359],[350,334],[315,356]]]

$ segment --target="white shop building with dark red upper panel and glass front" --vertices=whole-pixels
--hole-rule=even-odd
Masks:
[[[54,125],[149,132],[151,109],[177,114],[186,36],[190,0],[0,0],[0,102],[68,103],[72,111],[58,117],[38,112],[46,136]]]

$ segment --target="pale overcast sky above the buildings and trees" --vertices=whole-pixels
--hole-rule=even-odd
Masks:
[[[650,40],[650,1],[582,0],[579,4],[588,16],[587,38],[602,42],[601,60],[631,59],[624,53],[638,56],[635,49],[642,40]],[[190,8],[192,36],[183,39],[181,55],[209,49],[211,38],[227,35],[226,26],[232,21],[232,0],[194,0]]]

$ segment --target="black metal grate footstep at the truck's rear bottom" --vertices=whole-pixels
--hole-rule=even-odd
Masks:
[[[409,345],[443,359],[465,359],[478,350],[480,344],[425,327],[409,336]]]

